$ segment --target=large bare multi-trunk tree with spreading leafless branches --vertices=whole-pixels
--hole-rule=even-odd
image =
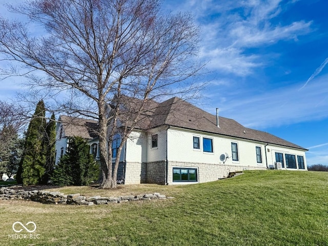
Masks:
[[[113,169],[109,151],[113,136],[121,134],[119,159],[153,99],[190,95],[197,89],[194,78],[203,68],[196,59],[199,29],[191,14],[164,13],[160,2],[29,0],[9,6],[29,24],[0,19],[0,52],[21,65],[3,70],[3,75],[24,71],[31,86],[60,96],[62,111],[98,120],[103,188],[116,186],[118,161]],[[45,34],[29,33],[31,23]],[[126,104],[133,105],[127,110],[122,106]]]

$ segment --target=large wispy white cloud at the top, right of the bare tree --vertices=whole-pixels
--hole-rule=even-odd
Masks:
[[[220,73],[240,77],[265,66],[266,54],[247,54],[248,48],[270,46],[280,40],[297,41],[312,31],[312,22],[296,19],[282,24],[279,15],[297,1],[183,1],[169,2],[171,9],[192,11],[202,27],[202,58]]]

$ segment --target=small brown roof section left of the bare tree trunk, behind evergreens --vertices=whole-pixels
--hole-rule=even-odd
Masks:
[[[66,137],[79,136],[86,139],[97,137],[95,132],[97,129],[96,120],[60,115],[59,121],[63,125]]]

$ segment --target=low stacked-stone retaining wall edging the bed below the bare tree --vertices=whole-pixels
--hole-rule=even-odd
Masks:
[[[94,205],[94,204],[111,204],[111,203],[122,203],[129,201],[139,200],[165,200],[174,197],[166,197],[165,195],[154,193],[154,194],[143,194],[143,195],[130,195],[130,196],[118,196],[118,197],[101,197],[91,196],[86,197],[79,193],[65,195],[61,192],[50,192],[50,191],[25,191],[25,190],[14,190],[12,188],[1,188],[0,189],[0,200],[31,200],[42,203],[51,204],[72,204],[72,205]]]

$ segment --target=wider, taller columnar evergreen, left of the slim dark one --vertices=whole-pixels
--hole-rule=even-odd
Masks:
[[[43,100],[40,100],[26,132],[24,153],[17,173],[17,181],[21,180],[23,186],[35,185],[45,174],[45,132],[46,109]]]

